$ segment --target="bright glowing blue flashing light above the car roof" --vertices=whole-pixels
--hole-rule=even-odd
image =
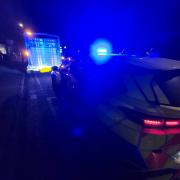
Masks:
[[[109,61],[112,53],[112,45],[105,39],[96,40],[90,49],[90,55],[94,62],[98,65]]]

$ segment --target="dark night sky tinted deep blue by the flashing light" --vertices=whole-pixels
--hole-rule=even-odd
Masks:
[[[179,0],[1,0],[0,19],[1,38],[23,21],[74,47],[97,38],[118,48],[180,47]]]

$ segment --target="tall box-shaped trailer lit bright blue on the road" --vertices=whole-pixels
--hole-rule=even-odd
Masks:
[[[25,33],[28,71],[43,71],[58,66],[61,61],[58,36],[44,33]]]

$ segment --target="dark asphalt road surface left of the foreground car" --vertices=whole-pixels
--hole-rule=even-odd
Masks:
[[[143,167],[136,148],[91,110],[56,99],[50,74],[4,70],[3,77],[1,180],[127,179],[128,172]]]

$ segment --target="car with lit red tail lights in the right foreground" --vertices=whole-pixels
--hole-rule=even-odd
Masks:
[[[124,90],[98,105],[99,119],[136,146],[149,169],[179,169],[180,61],[129,57],[117,66]]]

